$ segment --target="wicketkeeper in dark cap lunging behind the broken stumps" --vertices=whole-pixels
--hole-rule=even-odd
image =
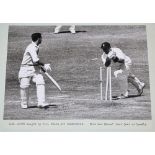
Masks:
[[[103,64],[105,67],[110,66],[111,61],[119,64],[119,70],[114,72],[115,78],[118,79],[120,85],[121,96],[118,98],[126,98],[128,97],[128,83],[130,82],[134,85],[138,91],[139,96],[143,93],[143,88],[145,84],[141,82],[132,72],[131,59],[125,55],[122,50],[119,48],[111,48],[110,43],[104,42],[101,45],[101,49],[103,50],[103,55],[101,56]]]

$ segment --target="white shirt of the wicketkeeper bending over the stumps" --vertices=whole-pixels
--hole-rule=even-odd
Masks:
[[[121,49],[119,48],[111,48],[108,54],[103,53],[102,61],[105,64],[106,58],[109,57],[110,59],[117,57],[119,60],[124,60],[124,65],[126,69],[131,65],[131,59],[125,55]],[[121,65],[121,64],[120,64]],[[122,64],[123,65],[123,64]]]

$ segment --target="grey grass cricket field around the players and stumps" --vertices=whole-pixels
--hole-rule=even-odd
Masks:
[[[53,34],[54,26],[11,26],[8,39],[4,119],[7,120],[149,120],[151,101],[147,41],[144,26],[77,26],[76,34],[63,28]],[[30,36],[41,32],[43,42],[40,58],[52,66],[52,75],[62,87],[57,91],[45,77],[46,100],[51,106],[44,110],[36,107],[35,85],[30,87],[30,108],[20,108],[18,71]],[[100,101],[99,67],[100,45],[109,41],[121,48],[133,61],[133,72],[146,83],[140,97]],[[97,60],[93,60],[98,58]],[[93,61],[92,61],[93,60]],[[112,71],[116,67],[112,67]],[[103,90],[106,77],[103,71]],[[112,93],[119,94],[112,74]],[[130,94],[136,94],[130,86]],[[104,95],[104,94],[103,94]]]

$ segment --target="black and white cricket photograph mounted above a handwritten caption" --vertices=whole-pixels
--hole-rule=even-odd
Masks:
[[[10,25],[4,120],[152,120],[146,25]]]

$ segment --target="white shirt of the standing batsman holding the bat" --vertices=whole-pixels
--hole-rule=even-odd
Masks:
[[[19,70],[18,78],[34,76],[36,68],[33,66],[33,64],[39,60],[38,53],[39,46],[37,46],[34,42],[27,46]]]

